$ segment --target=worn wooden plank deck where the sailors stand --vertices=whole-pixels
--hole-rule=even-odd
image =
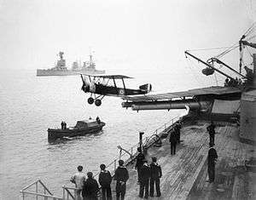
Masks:
[[[208,151],[208,123],[198,122],[196,125],[184,126],[181,130],[181,144],[177,145],[176,155],[172,156],[170,151],[169,137],[163,140],[163,146],[150,147],[148,149],[148,161],[150,157],[158,157],[163,177],[160,180],[161,197],[148,197],[148,199],[209,199],[216,197],[213,191],[220,189],[210,186],[207,180],[207,151]],[[253,146],[241,143],[237,137],[238,129],[231,124],[218,126],[215,135],[215,148],[218,152],[218,164],[216,173],[222,174],[224,166],[236,168],[242,166],[244,160],[251,157]],[[130,179],[127,182],[125,199],[141,199],[138,197],[139,185],[137,185],[137,171],[134,164],[128,167]],[[229,171],[226,172],[230,175]],[[218,183],[218,181],[215,181]],[[234,183],[235,182],[235,183]],[[232,190],[229,196],[239,196],[241,180],[236,178],[230,180]],[[215,185],[215,184],[213,184]],[[235,188],[233,191],[233,187]],[[249,187],[249,185],[248,185]],[[114,186],[113,188],[113,197]],[[252,189],[253,190],[253,189]],[[222,193],[227,193],[220,190]],[[228,191],[228,190],[226,190]],[[213,193],[214,194],[213,194]],[[154,194],[155,195],[155,194]],[[213,199],[213,198],[212,198]]]

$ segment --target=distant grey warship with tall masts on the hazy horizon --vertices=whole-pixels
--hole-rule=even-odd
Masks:
[[[78,61],[73,62],[72,69],[67,69],[66,60],[63,59],[64,52],[59,52],[60,60],[57,60],[55,67],[50,69],[37,69],[37,76],[71,76],[78,75],[78,73],[88,73],[88,74],[102,74],[105,73],[104,70],[96,70],[96,64],[92,59],[92,54],[90,54],[90,60],[85,61],[84,65],[79,65]]]

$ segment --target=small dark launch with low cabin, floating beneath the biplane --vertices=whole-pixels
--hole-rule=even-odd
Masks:
[[[102,130],[106,123],[100,120],[82,120],[78,121],[74,127],[67,129],[48,129],[48,140],[56,140],[63,137],[75,137],[85,134],[96,134]]]

